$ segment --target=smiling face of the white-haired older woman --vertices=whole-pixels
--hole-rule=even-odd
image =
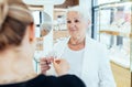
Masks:
[[[67,29],[73,37],[81,36],[86,33],[87,23],[77,11],[67,13]]]

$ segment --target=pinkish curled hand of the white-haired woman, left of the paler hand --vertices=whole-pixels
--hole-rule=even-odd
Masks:
[[[54,61],[53,57],[43,57],[40,59],[41,73],[46,74],[46,70],[51,68],[51,63]]]

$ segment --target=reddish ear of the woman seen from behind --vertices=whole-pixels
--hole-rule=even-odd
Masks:
[[[35,25],[34,23],[29,25],[29,41],[33,42],[35,40]]]

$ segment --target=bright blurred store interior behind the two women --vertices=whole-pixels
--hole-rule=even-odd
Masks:
[[[34,68],[40,57],[54,55],[53,45],[68,37],[66,11],[81,7],[89,14],[88,35],[108,48],[117,87],[132,87],[132,0],[23,0],[36,24]],[[47,29],[44,29],[47,28]]]

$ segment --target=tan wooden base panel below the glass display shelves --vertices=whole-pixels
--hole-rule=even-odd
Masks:
[[[111,62],[111,68],[117,87],[131,87],[131,72],[128,68]]]

